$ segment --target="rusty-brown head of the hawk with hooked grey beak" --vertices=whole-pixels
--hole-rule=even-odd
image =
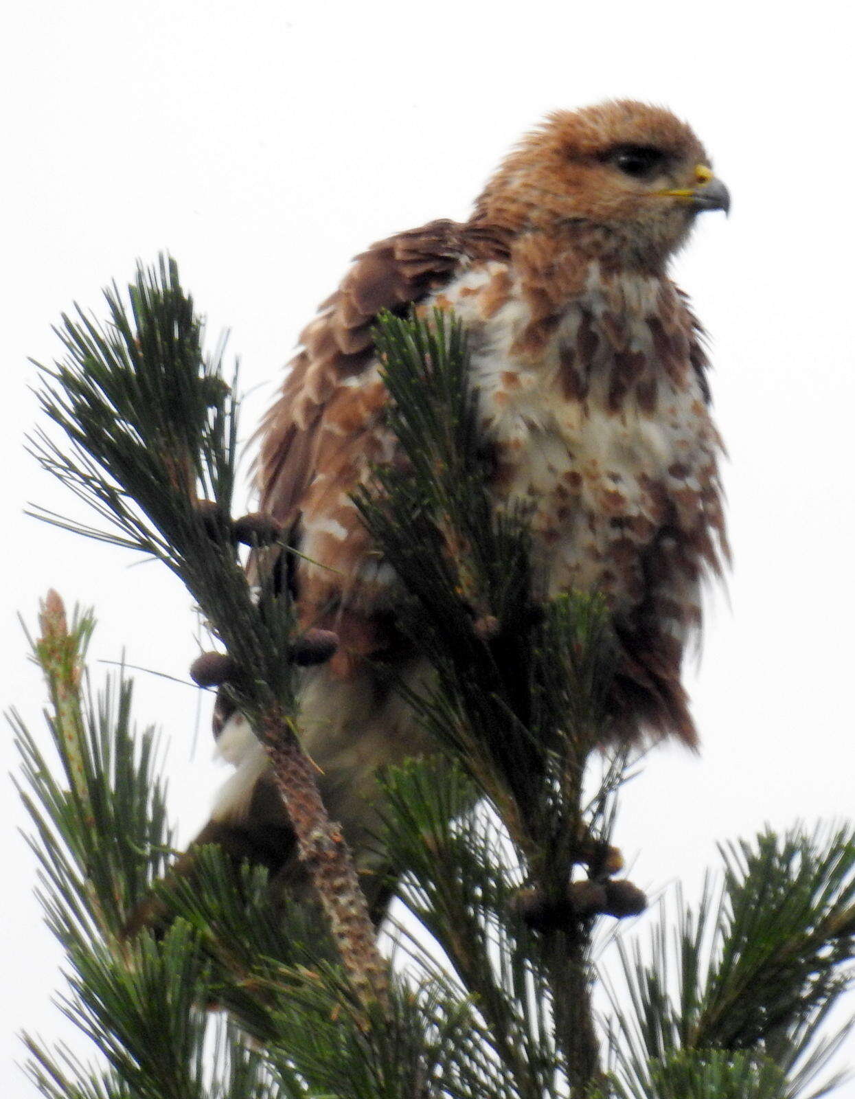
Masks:
[[[657,267],[686,241],[696,214],[729,206],[685,122],[619,100],[551,114],[500,165],[476,218]]]

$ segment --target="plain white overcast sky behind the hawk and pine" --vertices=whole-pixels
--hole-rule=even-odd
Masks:
[[[547,110],[629,96],[695,126],[733,196],[677,275],[712,336],[735,568],[691,676],[703,751],[655,753],[618,829],[634,879],[697,896],[715,841],[764,822],[851,814],[855,533],[851,29],[830,0],[608,4],[359,4],[148,0],[15,5],[0,36],[8,160],[2,362],[8,482],[3,704],[38,722],[42,691],[16,612],[55,586],[95,604],[92,656],[182,676],[189,600],[153,564],[40,525],[68,501],[23,452],[27,356],[57,352],[73,301],[168,248],[243,363],[246,435],[297,334],[369,242],[464,218],[509,145]],[[96,675],[102,666],[96,665]],[[137,719],[173,742],[173,812],[189,837],[224,774],[198,692],[137,677]],[[3,773],[14,766],[0,740]],[[198,742],[196,757],[191,747]],[[9,992],[3,1095],[22,1028],[68,1034],[48,1006],[58,951],[32,899],[33,861],[4,818],[0,946]],[[79,1045],[79,1043],[78,1043]],[[855,1063],[855,1050],[850,1057]],[[1,1078],[1,1077],[0,1077]],[[855,1096],[855,1085],[841,1096]]]

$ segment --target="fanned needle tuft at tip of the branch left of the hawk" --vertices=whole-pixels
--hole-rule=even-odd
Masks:
[[[137,268],[130,311],[115,284],[104,297],[108,323],[79,308],[76,318],[64,314],[55,331],[65,359],[36,364],[42,410],[67,441],[40,429],[33,449],[113,528],[87,533],[151,553],[180,574],[198,525],[197,488],[224,514],[231,510],[237,409],[222,378],[223,348],[203,355],[203,325],[171,259]]]

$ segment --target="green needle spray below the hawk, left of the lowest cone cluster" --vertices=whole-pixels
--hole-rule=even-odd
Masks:
[[[399,896],[418,921],[400,940],[422,972],[445,966],[474,997],[481,1056],[508,1096],[566,1094],[554,1036],[554,988],[540,936],[514,910],[523,870],[477,788],[457,766],[411,764],[386,775],[387,854],[406,873]],[[436,948],[445,965],[437,965]]]

